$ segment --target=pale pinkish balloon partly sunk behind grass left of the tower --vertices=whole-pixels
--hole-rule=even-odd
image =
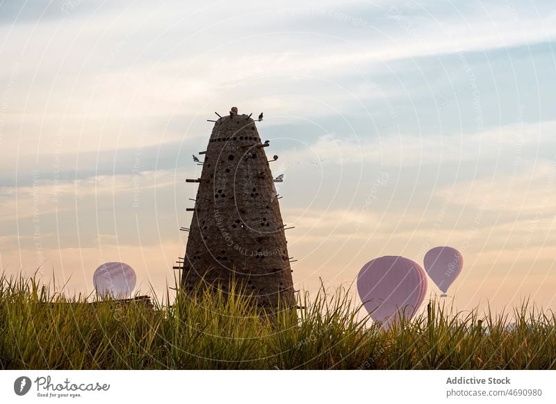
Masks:
[[[106,262],[92,275],[95,289],[101,296],[129,298],[137,282],[135,271],[123,262]]]

